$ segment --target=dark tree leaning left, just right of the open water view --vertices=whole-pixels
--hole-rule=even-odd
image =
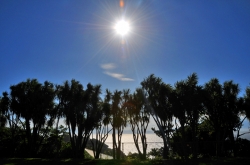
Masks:
[[[173,114],[171,111],[170,97],[172,87],[165,84],[161,78],[151,74],[141,82],[142,89],[145,91],[144,99],[148,111],[152,115],[158,129],[159,135],[163,139],[163,158],[168,157],[170,134],[172,132]]]

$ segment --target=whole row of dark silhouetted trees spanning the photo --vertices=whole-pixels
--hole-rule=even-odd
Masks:
[[[152,117],[157,125],[152,129],[163,139],[164,159],[244,156],[250,145],[240,138],[240,129],[250,119],[250,87],[243,97],[239,92],[238,84],[221,84],[216,78],[201,86],[195,73],[174,86],[152,74],[134,92],[106,89],[103,98],[101,85],[84,88],[74,79],[62,85],[28,79],[0,97],[0,155],[84,158],[90,139],[98,159],[111,133],[112,155],[120,159],[123,130],[130,127],[138,156],[146,159]],[[66,127],[59,126],[60,119]],[[64,142],[65,133],[70,143]]]

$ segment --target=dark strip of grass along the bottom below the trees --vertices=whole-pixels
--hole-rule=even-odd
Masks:
[[[5,158],[1,165],[249,165],[250,158],[217,158],[195,160],[94,160],[94,159],[41,159]]]

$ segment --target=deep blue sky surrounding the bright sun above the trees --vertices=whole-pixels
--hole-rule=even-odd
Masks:
[[[0,92],[28,78],[133,92],[150,74],[174,85],[196,72],[243,95],[249,62],[249,0],[0,1]]]

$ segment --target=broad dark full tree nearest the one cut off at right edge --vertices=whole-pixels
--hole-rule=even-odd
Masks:
[[[214,78],[205,84],[204,89],[206,116],[216,134],[216,155],[223,155],[224,140],[228,137],[232,143],[231,146],[234,146],[233,132],[241,125],[243,100],[238,98],[239,85],[233,81],[225,81],[221,85],[219,80]]]

